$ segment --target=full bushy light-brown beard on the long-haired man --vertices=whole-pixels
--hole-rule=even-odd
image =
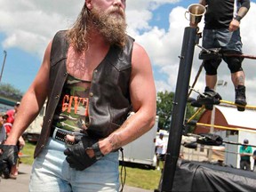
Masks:
[[[93,28],[104,36],[108,44],[124,47],[127,25],[122,10],[114,8],[110,12],[100,12],[97,8],[94,8],[90,16]]]

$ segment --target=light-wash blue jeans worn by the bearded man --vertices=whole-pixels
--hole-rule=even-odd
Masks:
[[[65,148],[64,142],[49,138],[33,164],[30,192],[118,191],[118,151],[103,156],[84,171],[76,171],[66,161]]]

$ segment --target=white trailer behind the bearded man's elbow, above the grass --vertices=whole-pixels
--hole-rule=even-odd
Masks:
[[[133,140],[131,143],[123,147],[124,160],[122,153],[119,156],[120,164],[124,162],[131,164],[145,165],[150,169],[156,169],[156,132],[158,126],[158,116],[154,127],[139,139]]]

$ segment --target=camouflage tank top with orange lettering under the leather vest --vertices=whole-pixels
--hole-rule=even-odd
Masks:
[[[53,126],[71,132],[87,129],[90,86],[91,82],[68,75],[53,116]]]

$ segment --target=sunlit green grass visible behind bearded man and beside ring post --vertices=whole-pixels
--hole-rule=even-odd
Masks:
[[[36,145],[33,143],[26,143],[25,147],[22,149],[22,153],[24,155],[28,155],[28,157],[24,157],[21,159],[22,164],[32,164],[33,163],[33,153]],[[120,165],[120,177],[124,178],[124,169],[121,175]],[[149,190],[154,190],[158,187],[158,183],[160,180],[161,172],[156,170],[148,170],[143,167],[132,167],[125,165],[126,168],[126,179],[125,185],[137,187],[137,188],[145,188]],[[124,180],[124,179],[123,179]]]

